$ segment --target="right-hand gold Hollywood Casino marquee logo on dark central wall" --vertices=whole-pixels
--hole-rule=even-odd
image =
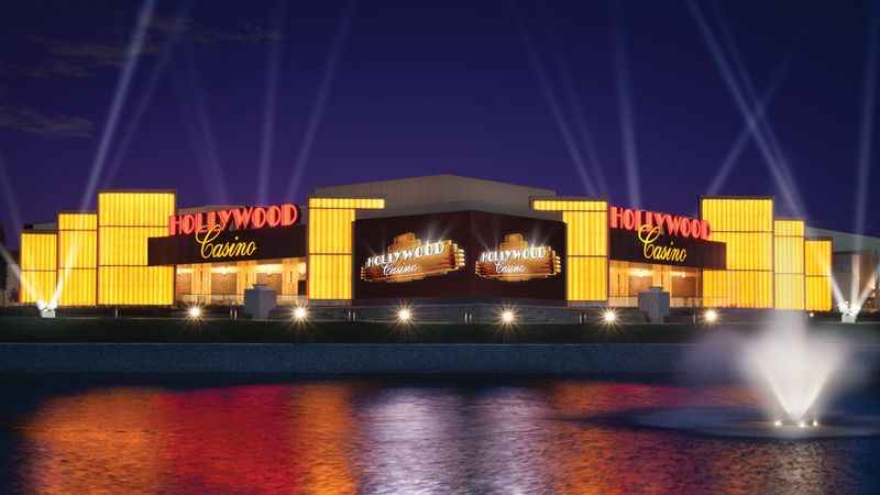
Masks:
[[[562,262],[550,246],[530,246],[521,233],[504,237],[497,250],[483,251],[476,262],[476,274],[503,282],[521,282],[558,275]]]

